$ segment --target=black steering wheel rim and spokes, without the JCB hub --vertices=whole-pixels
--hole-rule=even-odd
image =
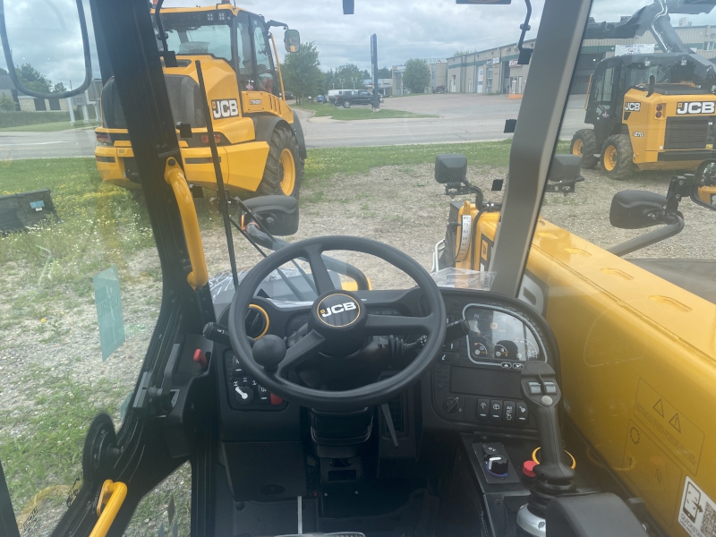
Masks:
[[[328,269],[321,260],[320,254],[323,251],[342,250],[356,251],[371,254],[381,260],[385,260],[396,268],[400,268],[412,277],[418,287],[421,288],[425,301],[430,309],[426,317],[397,317],[372,315],[365,312],[365,320],[362,330],[367,336],[371,335],[400,335],[400,334],[425,334],[428,340],[422,350],[410,362],[404,370],[398,371],[395,375],[382,379],[372,384],[344,391],[323,391],[315,388],[300,386],[284,378],[284,373],[299,365],[302,360],[294,360],[293,356],[305,356],[318,352],[323,343],[320,337],[324,337],[317,329],[311,331],[289,347],[286,358],[279,364],[277,371],[266,371],[254,361],[251,345],[246,336],[244,318],[248,311],[251,300],[253,300],[256,289],[265,277],[273,270],[281,267],[286,262],[296,258],[304,258],[311,265],[311,276],[316,284],[318,298],[311,305],[311,312],[318,311],[318,304],[328,294],[345,294],[353,298],[360,308],[360,299],[351,293],[341,289],[335,289],[330,280]],[[321,268],[322,267],[322,268]],[[329,287],[329,288],[327,288]],[[363,308],[362,311],[365,311]],[[379,243],[371,239],[361,237],[332,235],[328,237],[317,237],[300,241],[286,246],[279,251],[274,251],[267,258],[261,260],[243,278],[241,285],[236,289],[229,311],[229,337],[243,366],[256,381],[267,388],[271,393],[285,398],[289,402],[315,408],[324,411],[350,411],[366,406],[379,405],[387,402],[394,396],[403,393],[405,389],[413,386],[422,374],[430,368],[435,357],[442,347],[446,330],[445,303],[430,274],[413,258],[403,251],[399,251],[385,243]],[[321,328],[325,330],[326,328]],[[332,328],[331,328],[332,329]],[[352,328],[353,329],[353,328]],[[361,329],[356,326],[355,330]],[[329,330],[328,330],[329,332]],[[324,337],[325,341],[325,337]],[[300,347],[292,354],[295,347]],[[293,362],[286,362],[291,361]],[[286,365],[284,366],[284,362]]]

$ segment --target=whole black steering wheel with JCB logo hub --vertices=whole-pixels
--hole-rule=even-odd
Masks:
[[[323,251],[330,250],[368,253],[400,268],[412,277],[422,290],[430,314],[425,317],[401,317],[369,313],[357,295],[334,287],[328,268],[321,258]],[[258,340],[254,349],[251,349],[244,325],[251,300],[265,277],[296,258],[308,260],[319,295],[310,306],[308,334],[288,349],[278,337],[267,340],[271,345]],[[403,393],[430,368],[443,345],[445,330],[445,303],[428,272],[413,258],[388,244],[351,236],[307,239],[274,251],[251,268],[243,278],[236,289],[229,311],[231,345],[246,371],[271,393],[287,401],[324,411],[349,411],[380,405]],[[361,388],[324,391],[296,384],[287,378],[289,371],[319,353],[322,359],[330,360],[331,356],[354,354],[369,336],[408,334],[425,335],[427,342],[413,362],[387,379]],[[258,350],[259,347],[261,351]],[[260,359],[260,362],[264,363],[262,366],[254,358],[254,354],[259,352],[265,355],[267,350],[275,354],[275,360],[269,364],[271,360],[267,362]],[[283,360],[282,354],[285,354]]]

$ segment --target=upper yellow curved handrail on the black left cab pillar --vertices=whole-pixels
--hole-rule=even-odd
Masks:
[[[201,243],[199,218],[196,216],[192,191],[186,183],[182,166],[179,166],[175,158],[166,160],[164,180],[172,187],[176,204],[179,206],[179,214],[182,216],[186,248],[189,251],[189,261],[192,263],[192,272],[186,277],[186,281],[194,289],[206,286],[209,282],[209,269],[204,257],[204,245]]]

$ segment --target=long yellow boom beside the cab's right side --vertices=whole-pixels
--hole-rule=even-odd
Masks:
[[[477,212],[465,202],[457,222]],[[498,220],[480,217],[457,268],[489,267]],[[686,537],[686,478],[716,498],[716,304],[541,218],[520,296],[554,329],[564,415],[590,458],[669,535]]]

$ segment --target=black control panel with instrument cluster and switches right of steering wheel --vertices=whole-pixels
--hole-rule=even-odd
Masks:
[[[442,290],[448,327],[464,320],[465,336],[446,341],[431,371],[435,411],[449,422],[490,429],[535,427],[520,389],[529,362],[550,362],[549,328],[516,305],[478,301]],[[467,330],[465,328],[465,330]]]

